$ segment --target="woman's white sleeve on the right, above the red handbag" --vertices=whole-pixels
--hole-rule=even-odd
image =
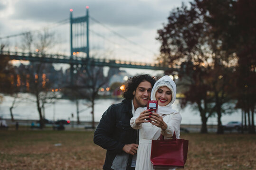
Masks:
[[[173,136],[173,131],[175,131],[176,137],[180,138],[180,123],[181,123],[181,115],[180,113],[175,113],[168,119],[167,128],[165,130],[161,130],[161,134],[166,136],[167,138],[171,138]]]

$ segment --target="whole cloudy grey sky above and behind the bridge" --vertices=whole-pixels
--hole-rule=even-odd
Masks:
[[[69,18],[70,8],[73,9],[73,17],[84,16],[85,7],[89,6],[90,17],[127,38],[130,42],[134,42],[131,44],[124,39],[121,40],[120,37],[111,40],[117,44],[125,43],[123,47],[133,49],[133,54],[129,54],[130,60],[140,58],[139,61],[152,62],[159,54],[160,43],[155,40],[157,30],[167,23],[170,11],[180,7],[182,2],[188,4],[189,0],[0,0],[0,37],[51,26]],[[103,27],[102,25],[95,22],[90,24],[90,29],[95,26],[93,30],[106,36],[106,33],[100,29]],[[63,49],[69,51],[68,23],[66,26],[55,27],[54,31],[58,33],[57,36]],[[92,41],[96,37],[91,33],[90,36]],[[109,37],[108,39],[110,39]],[[111,37],[113,38],[113,36]],[[118,38],[119,40],[117,40]],[[0,39],[0,42],[16,41],[16,44],[19,43],[18,37],[13,39]],[[97,42],[100,41],[97,39]],[[130,46],[134,44],[139,45]],[[90,44],[90,48],[93,45]]]

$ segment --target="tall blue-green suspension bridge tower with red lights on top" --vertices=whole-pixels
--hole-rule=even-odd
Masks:
[[[89,7],[86,6],[84,17],[72,17],[73,9],[70,9],[70,85],[74,82],[74,64],[72,60],[77,52],[86,54],[86,67],[90,70],[89,58]],[[85,27],[86,24],[86,27]]]

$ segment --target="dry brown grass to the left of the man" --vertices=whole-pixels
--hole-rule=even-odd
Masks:
[[[105,151],[93,143],[93,132],[1,131],[0,136],[3,170],[100,170],[104,163]]]

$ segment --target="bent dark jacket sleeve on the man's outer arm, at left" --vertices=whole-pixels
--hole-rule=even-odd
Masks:
[[[98,127],[95,129],[94,143],[104,149],[112,150],[115,153],[121,153],[125,144],[112,137],[115,128],[115,109],[112,105],[104,112]]]

